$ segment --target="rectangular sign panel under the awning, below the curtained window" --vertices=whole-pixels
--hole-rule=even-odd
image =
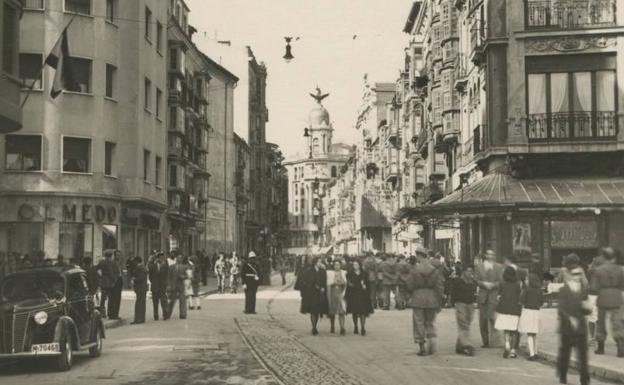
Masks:
[[[595,221],[552,221],[551,247],[592,248],[598,245],[598,225]]]

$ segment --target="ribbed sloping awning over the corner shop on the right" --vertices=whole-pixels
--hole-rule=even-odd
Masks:
[[[624,209],[624,178],[515,179],[493,173],[433,204],[403,210],[399,217],[514,208]]]

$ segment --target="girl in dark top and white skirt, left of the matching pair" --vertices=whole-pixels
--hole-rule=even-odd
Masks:
[[[516,358],[515,349],[518,322],[522,306],[520,305],[521,294],[520,282],[516,269],[508,266],[503,271],[503,282],[499,286],[499,301],[496,306],[496,322],[494,328],[502,330],[505,335],[505,352],[503,358]]]

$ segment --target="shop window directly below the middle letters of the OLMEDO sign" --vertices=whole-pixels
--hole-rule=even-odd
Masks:
[[[93,258],[93,224],[61,223],[59,253],[72,263],[79,263],[82,258]]]

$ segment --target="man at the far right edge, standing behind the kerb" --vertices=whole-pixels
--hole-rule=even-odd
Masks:
[[[598,322],[596,323],[596,354],[604,354],[607,339],[607,316],[611,318],[613,339],[617,343],[618,357],[624,357],[624,325],[620,314],[622,291],[624,290],[624,270],[615,263],[615,251],[605,247],[602,251],[604,262],[592,274],[591,290],[598,294]]]

